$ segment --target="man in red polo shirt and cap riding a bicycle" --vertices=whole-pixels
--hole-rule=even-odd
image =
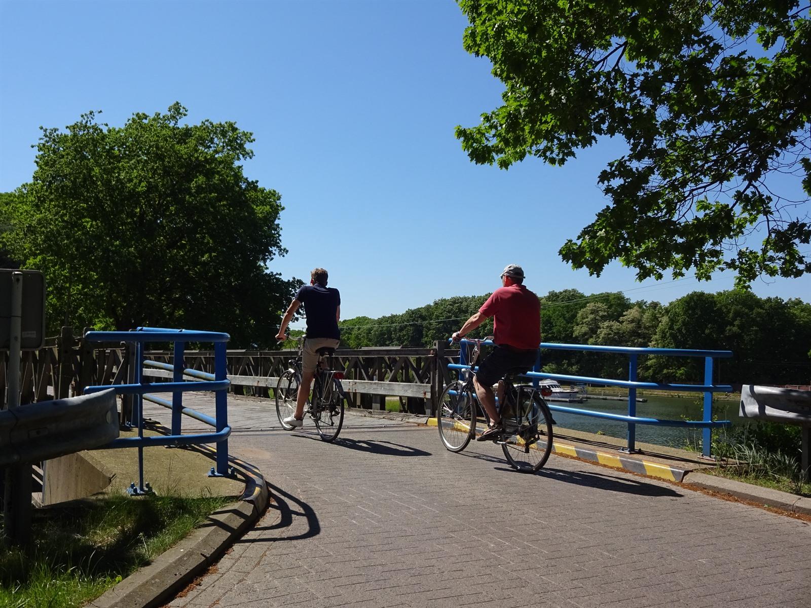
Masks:
[[[473,383],[476,395],[490,417],[490,427],[478,437],[478,441],[497,438],[503,426],[496,411],[496,396],[493,384],[513,367],[531,368],[538,357],[541,342],[541,304],[538,296],[524,287],[524,271],[520,266],[509,264],[501,273],[500,289],[496,289],[478,312],[467,319],[461,329],[453,334],[453,340],[461,340],[485,320],[493,317],[495,348],[479,363]]]

